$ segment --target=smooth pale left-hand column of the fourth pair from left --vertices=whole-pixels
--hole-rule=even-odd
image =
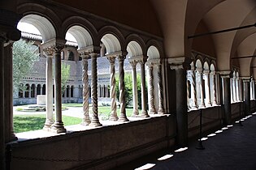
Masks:
[[[137,61],[136,60],[130,60],[129,61],[132,66],[132,98],[133,98],[133,113],[132,117],[137,117],[139,115],[138,110],[138,94],[137,94]]]

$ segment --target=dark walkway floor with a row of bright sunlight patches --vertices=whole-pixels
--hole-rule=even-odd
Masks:
[[[188,148],[145,155],[117,169],[256,169],[256,113],[204,136],[205,150],[197,150],[197,140]]]

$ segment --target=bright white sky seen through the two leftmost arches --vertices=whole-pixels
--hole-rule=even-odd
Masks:
[[[37,34],[37,35],[41,35],[41,33],[38,31],[38,29],[36,27],[34,27],[32,24],[30,23],[18,23],[17,28],[21,31],[21,32],[28,32],[28,33],[33,33],[33,34]],[[67,32],[66,40],[70,40],[73,42],[76,42],[76,39],[74,36],[72,36],[71,33]]]

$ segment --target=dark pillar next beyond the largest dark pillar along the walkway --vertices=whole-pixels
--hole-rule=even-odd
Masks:
[[[223,79],[224,124],[229,125],[232,123],[230,73],[221,74],[221,78]]]

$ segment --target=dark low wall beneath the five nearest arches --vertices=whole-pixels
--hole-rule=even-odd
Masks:
[[[172,116],[151,117],[122,125],[12,143],[11,169],[113,168],[141,155],[173,146],[176,135],[174,120]]]

